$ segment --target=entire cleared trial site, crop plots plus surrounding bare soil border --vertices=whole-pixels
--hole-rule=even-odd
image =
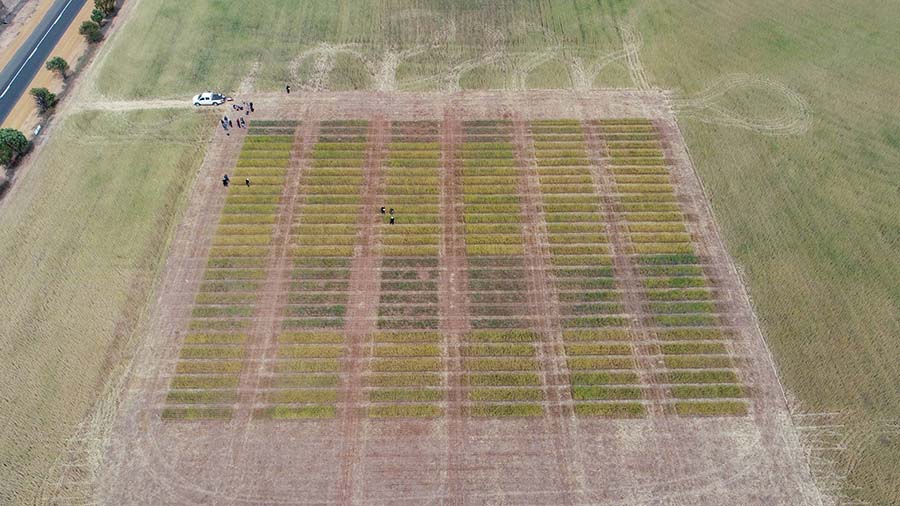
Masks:
[[[209,147],[106,503],[818,503],[664,95],[257,108]]]

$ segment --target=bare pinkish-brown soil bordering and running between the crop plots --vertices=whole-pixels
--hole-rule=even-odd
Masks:
[[[221,131],[191,194],[185,223],[167,262],[151,329],[108,446],[100,485],[104,504],[820,504],[791,424],[765,343],[749,302],[718,237],[684,141],[665,96],[643,91],[385,94],[317,93],[254,96],[256,119],[368,119],[370,152],[364,195],[374,205],[380,191],[386,125],[397,120],[443,120],[444,170],[454,159],[459,122],[496,119],[512,112],[519,124],[517,159],[526,176],[523,220],[529,239],[529,297],[539,313],[542,374],[547,376],[543,417],[479,419],[460,409],[458,376],[450,375],[444,416],[434,419],[372,419],[358,409],[362,398],[358,361],[362,337],[373,332],[378,272],[373,246],[374,215],[361,217],[354,258],[348,323],[349,389],[343,415],[316,421],[259,421],[236,416],[229,422],[163,422],[159,417],[173,360],[178,352],[192,296],[203,275],[207,251],[224,198],[217,179],[235,164],[240,139]],[[729,318],[739,334],[735,355],[752,392],[747,416],[682,418],[652,408],[645,418],[576,417],[564,371],[554,353],[560,345],[558,313],[544,265],[544,224],[529,175],[529,141],[521,122],[532,119],[653,118],[661,126],[673,178],[700,253],[710,259],[710,276],[730,301]],[[305,128],[305,127],[304,127]],[[304,145],[311,130],[306,128]],[[307,149],[307,148],[304,148]],[[302,172],[304,163],[297,165]],[[595,185],[606,186],[602,171]],[[291,176],[296,178],[296,174]],[[447,318],[444,362],[459,370],[458,338],[466,330],[464,247],[458,226],[461,202],[453,171],[442,177],[444,213],[441,305]],[[597,184],[599,183],[599,184]],[[287,190],[286,190],[287,191]],[[288,192],[289,193],[289,192]],[[284,206],[290,209],[290,206]],[[610,213],[610,220],[615,220]],[[290,223],[286,221],[284,223]],[[280,260],[269,264],[263,300],[277,305]],[[628,265],[617,266],[626,275]],[[626,283],[626,287],[628,283]],[[271,293],[274,290],[276,293]],[[549,310],[546,308],[550,308]],[[266,308],[274,311],[274,308]],[[631,305],[640,311],[639,304]],[[257,312],[263,327],[273,315]],[[639,317],[639,315],[635,315]],[[260,332],[265,329],[260,327]],[[274,332],[274,329],[272,329]],[[272,338],[273,336],[269,336]],[[640,343],[637,343],[640,346]],[[251,358],[272,346],[250,343]],[[258,348],[257,348],[258,347]],[[254,362],[255,363],[255,362]],[[649,367],[649,366],[648,366]],[[356,371],[356,373],[354,373]],[[649,375],[652,376],[652,375]],[[242,381],[242,389],[250,383]],[[659,393],[659,390],[653,390]],[[238,412],[249,410],[242,390]],[[655,402],[655,401],[654,401]]]

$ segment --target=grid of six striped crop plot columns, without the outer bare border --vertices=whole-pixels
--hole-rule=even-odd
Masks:
[[[228,420],[247,389],[260,421],[749,413],[728,301],[658,124],[453,128],[254,122],[161,416]],[[448,321],[463,330],[445,335]]]

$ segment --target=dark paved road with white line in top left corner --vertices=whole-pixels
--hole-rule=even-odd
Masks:
[[[6,67],[0,70],[0,122],[19,101],[37,71],[44,66],[50,51],[75,19],[86,0],[56,0],[44,19],[16,51]],[[69,62],[70,65],[75,62]]]

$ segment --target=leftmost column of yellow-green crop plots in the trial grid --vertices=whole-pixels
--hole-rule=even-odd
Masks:
[[[271,223],[281,211],[284,167],[295,128],[295,124],[282,125],[273,132],[271,127],[258,126],[245,138],[230,175],[233,184],[224,190],[222,218],[169,385],[162,412],[165,420],[231,417],[256,291],[266,276]],[[273,143],[279,147],[271,147]],[[241,184],[244,179],[250,179],[251,186]],[[261,222],[258,216],[271,220]]]

